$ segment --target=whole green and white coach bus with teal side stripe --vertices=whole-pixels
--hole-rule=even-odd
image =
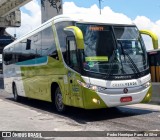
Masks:
[[[145,103],[151,76],[141,34],[131,22],[60,15],[4,48],[5,90],[66,106],[99,109]]]

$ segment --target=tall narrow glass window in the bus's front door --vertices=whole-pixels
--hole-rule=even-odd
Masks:
[[[77,59],[77,49],[74,37],[67,37],[67,58],[68,64],[71,68],[79,71],[79,64]]]

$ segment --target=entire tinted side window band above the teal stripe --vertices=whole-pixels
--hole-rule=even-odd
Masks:
[[[4,50],[4,63],[22,62],[42,56],[58,59],[52,27],[32,35],[17,43],[14,47]]]

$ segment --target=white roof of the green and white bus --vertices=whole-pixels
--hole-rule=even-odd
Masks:
[[[102,23],[102,24],[128,25],[128,26],[135,25],[131,20],[121,21],[118,17],[108,19],[104,15],[62,14],[62,15],[53,17],[52,19],[38,26],[36,29],[18,38],[13,43],[6,46],[5,49],[16,44],[19,41],[22,41],[26,37],[34,34],[34,32],[38,31],[39,29],[45,28],[47,25],[51,25],[53,21],[54,23],[62,22],[62,21],[76,21],[76,22],[82,22],[82,23]]]

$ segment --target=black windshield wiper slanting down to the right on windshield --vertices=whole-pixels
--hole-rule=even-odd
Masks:
[[[136,66],[136,64],[134,63],[134,61],[133,61],[132,58],[130,57],[130,55],[124,50],[123,45],[122,45],[122,42],[121,42],[120,40],[117,40],[117,41],[118,41],[119,44],[120,44],[120,47],[121,47],[122,53],[123,53],[123,55],[124,55],[124,58],[125,58],[125,56],[127,56],[128,59],[129,59],[129,61],[130,61],[131,64],[132,64],[132,66],[133,66],[134,69],[137,71],[137,73],[140,73],[138,67]],[[136,73],[136,72],[134,71],[134,73]]]

